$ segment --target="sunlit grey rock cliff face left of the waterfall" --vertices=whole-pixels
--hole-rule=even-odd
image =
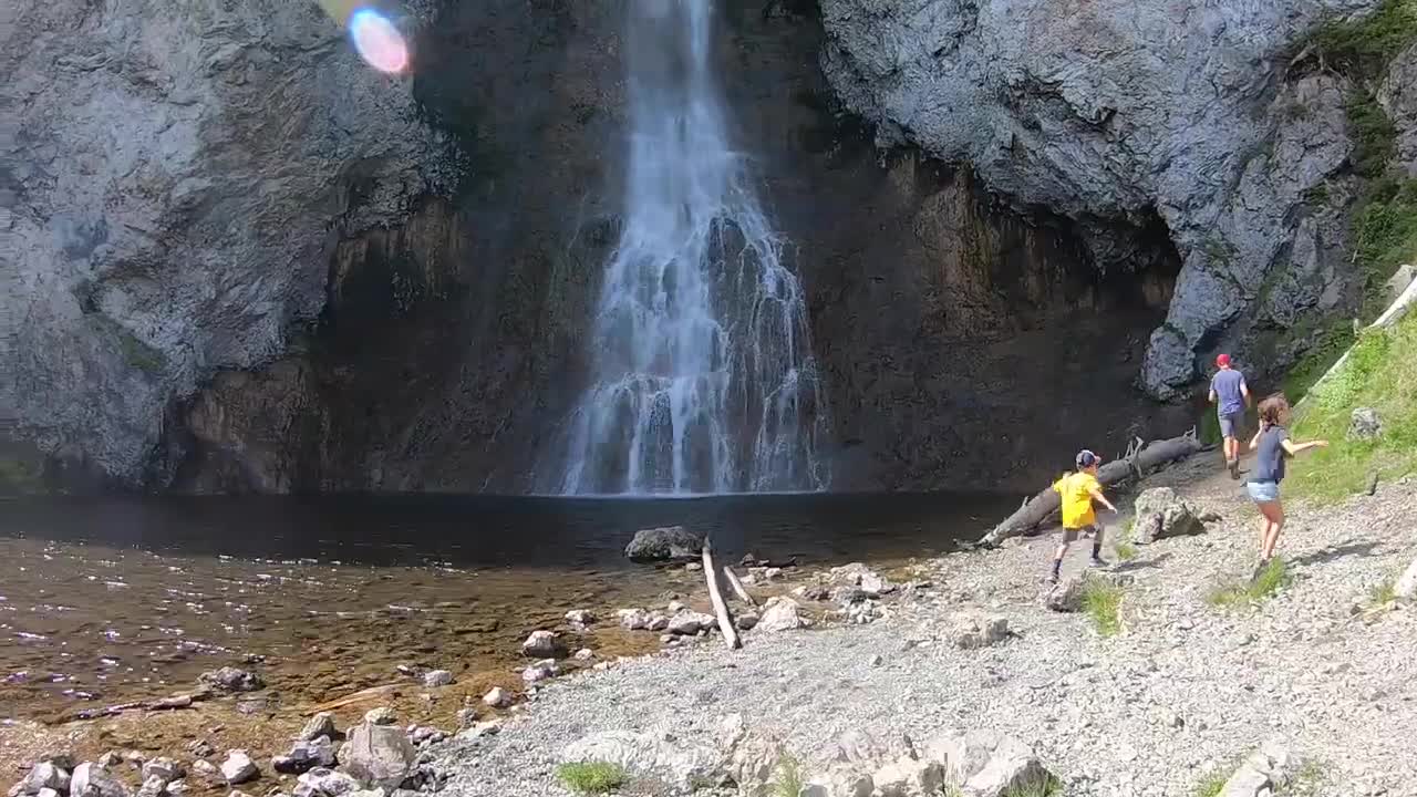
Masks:
[[[441,147],[313,3],[17,3],[0,414],[60,461],[163,484],[173,401],[281,353],[334,243],[401,220]]]

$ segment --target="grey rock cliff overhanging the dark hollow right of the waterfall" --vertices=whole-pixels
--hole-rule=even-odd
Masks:
[[[1304,201],[1352,147],[1346,85],[1287,67],[1316,21],[1374,6],[822,0],[822,64],[881,143],[1077,221],[1108,272],[1146,265],[1159,217],[1183,267],[1139,383],[1170,398],[1217,347],[1350,299],[1340,216]]]

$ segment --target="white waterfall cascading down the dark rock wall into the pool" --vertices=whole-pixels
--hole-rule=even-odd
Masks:
[[[802,285],[728,145],[711,3],[626,9],[626,207],[560,491],[822,489]]]

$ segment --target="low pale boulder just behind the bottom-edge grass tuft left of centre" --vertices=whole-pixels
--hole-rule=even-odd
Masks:
[[[618,764],[632,780],[663,783],[672,791],[693,791],[713,780],[720,753],[670,730],[605,730],[567,745],[560,760]]]

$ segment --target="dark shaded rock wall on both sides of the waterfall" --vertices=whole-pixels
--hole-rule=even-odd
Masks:
[[[836,488],[1029,489],[1078,447],[1183,425],[1131,387],[1179,269],[1159,220],[1146,267],[1104,277],[1070,221],[881,156],[820,74],[813,3],[726,6],[724,91],[798,250]],[[339,244],[299,345],[179,410],[173,486],[530,489],[615,243],[621,35],[618,3],[445,6],[414,96],[466,156],[458,194]]]

